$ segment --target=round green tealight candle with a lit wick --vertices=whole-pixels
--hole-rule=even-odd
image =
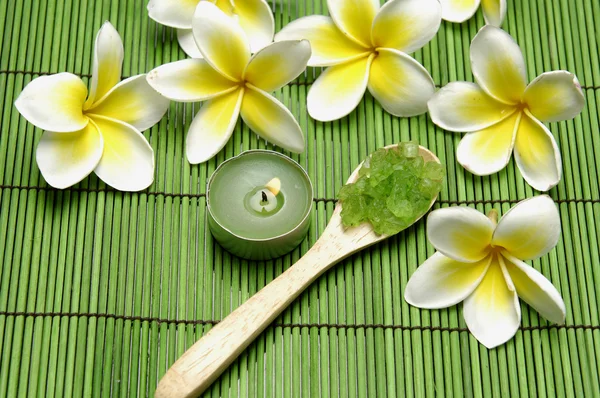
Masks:
[[[209,227],[239,257],[279,257],[306,236],[312,200],[298,163],[278,152],[246,151],[222,163],[208,182]]]

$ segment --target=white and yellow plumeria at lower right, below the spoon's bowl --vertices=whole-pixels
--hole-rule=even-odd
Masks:
[[[405,300],[420,308],[446,308],[464,300],[473,336],[488,348],[510,340],[521,324],[519,297],[550,322],[565,321],[556,288],[522,260],[548,253],[558,243],[560,217],[547,195],[515,205],[496,225],[468,207],[433,211],[427,236],[438,250],[412,275]]]

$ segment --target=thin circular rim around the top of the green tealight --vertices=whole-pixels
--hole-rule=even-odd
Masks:
[[[300,222],[298,223],[298,225],[296,225],[294,228],[290,229],[289,231],[280,234],[280,235],[276,235],[276,236],[272,236],[270,238],[248,238],[246,236],[241,236],[235,232],[233,232],[232,230],[230,230],[229,228],[225,227],[221,222],[219,222],[219,220],[215,217],[215,215],[212,212],[211,206],[210,206],[210,186],[215,178],[215,176],[218,174],[218,171],[227,163],[238,159],[241,156],[245,156],[245,155],[251,155],[254,153],[266,153],[266,154],[271,154],[271,155],[277,155],[280,158],[291,162],[294,166],[296,166],[298,169],[300,169],[300,171],[302,172],[302,174],[304,175],[304,177],[306,177],[306,181],[308,181],[308,186],[310,188],[310,200],[309,200],[309,206],[307,208],[306,214],[304,215],[304,217],[302,217],[302,219],[300,220]],[[310,217],[310,213],[312,210],[312,202],[314,199],[314,187],[312,184],[312,181],[310,179],[310,176],[308,175],[308,173],[306,172],[306,170],[304,170],[304,167],[302,167],[302,165],[298,162],[296,162],[294,159],[290,158],[287,155],[284,155],[283,153],[277,152],[277,151],[271,151],[269,149],[249,149],[246,151],[243,151],[242,153],[240,153],[239,155],[236,156],[232,156],[231,158],[225,160],[223,163],[221,163],[220,165],[217,166],[217,168],[215,169],[215,171],[213,171],[213,173],[211,174],[210,178],[208,179],[208,182],[206,183],[206,208],[208,210],[209,216],[219,225],[219,227],[221,227],[223,230],[225,230],[227,233],[233,235],[236,238],[239,239],[243,239],[245,241],[249,241],[249,242],[270,242],[272,240],[275,239],[280,239],[283,238],[287,235],[290,235],[294,232],[296,232],[298,229],[302,228],[304,226],[304,224],[306,223],[306,220]]]

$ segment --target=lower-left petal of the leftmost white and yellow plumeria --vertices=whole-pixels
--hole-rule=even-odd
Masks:
[[[36,161],[44,179],[64,189],[87,177],[102,157],[102,136],[93,122],[71,133],[44,131]]]

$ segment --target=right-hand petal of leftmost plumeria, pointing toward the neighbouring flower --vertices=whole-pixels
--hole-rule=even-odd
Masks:
[[[137,75],[113,87],[88,114],[119,120],[144,131],[158,123],[167,109],[169,100],[150,87],[146,75]]]

